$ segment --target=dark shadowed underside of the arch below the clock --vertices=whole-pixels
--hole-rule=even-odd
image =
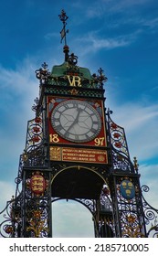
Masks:
[[[105,178],[87,166],[68,166],[53,176],[51,196],[66,199],[99,199]]]

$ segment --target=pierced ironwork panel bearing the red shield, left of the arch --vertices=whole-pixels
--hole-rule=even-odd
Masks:
[[[24,170],[22,237],[51,237],[51,187],[48,170]]]

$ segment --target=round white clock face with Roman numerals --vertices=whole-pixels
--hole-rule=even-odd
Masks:
[[[68,100],[58,104],[51,114],[54,130],[64,139],[90,142],[100,133],[100,114],[87,102]]]

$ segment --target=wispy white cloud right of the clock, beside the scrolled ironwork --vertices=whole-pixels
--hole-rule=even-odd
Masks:
[[[130,153],[139,161],[158,158],[158,105],[126,102],[113,105],[111,119],[125,129]],[[113,105],[113,107],[112,107]]]

